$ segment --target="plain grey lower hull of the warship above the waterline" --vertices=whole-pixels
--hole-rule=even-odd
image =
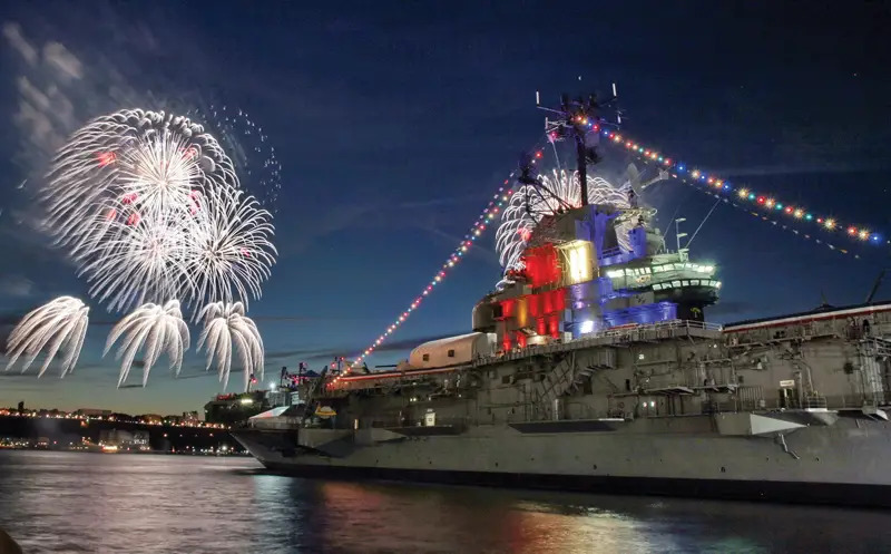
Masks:
[[[268,469],[301,477],[891,507],[891,426],[883,421],[842,419],[779,440],[723,436],[708,430],[709,418],[685,419],[564,432],[234,435]]]

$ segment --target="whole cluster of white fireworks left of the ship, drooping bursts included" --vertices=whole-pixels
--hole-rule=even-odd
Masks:
[[[277,171],[277,169],[276,169]],[[123,338],[118,386],[143,352],[143,385],[161,353],[178,375],[189,331],[183,308],[204,324],[228,382],[233,349],[245,373],[263,371],[263,341],[245,315],[275,263],[271,213],[246,194],[226,152],[188,118],[141,109],[89,123],[58,152],[39,193],[43,229],[109,311],[133,310],[111,331]],[[138,308],[137,308],[138,307]],[[43,352],[42,375],[63,352],[62,376],[84,344],[89,309],[56,299],[29,313],[9,338],[9,369]],[[225,386],[225,385],[224,385]]]

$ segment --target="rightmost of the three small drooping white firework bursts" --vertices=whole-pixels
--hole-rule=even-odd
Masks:
[[[256,323],[245,317],[241,302],[215,302],[202,310],[204,331],[198,339],[198,349],[206,343],[207,369],[216,362],[219,381],[225,389],[229,382],[233,349],[237,352],[244,370],[244,388],[247,390],[251,376],[263,378],[263,339]]]

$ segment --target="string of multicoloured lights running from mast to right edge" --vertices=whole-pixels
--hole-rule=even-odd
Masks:
[[[839,218],[828,215],[819,215],[803,206],[781,202],[776,195],[757,192],[747,186],[736,186],[719,175],[709,175],[699,169],[689,169],[687,164],[677,162],[656,148],[649,148],[627,136],[610,130],[601,130],[600,134],[608,138],[613,144],[625,146],[625,148],[637,155],[638,158],[655,163],[658,167],[670,171],[672,177],[687,182],[695,182],[705,185],[714,193],[721,193],[725,197],[735,197],[738,202],[760,207],[765,213],[776,213],[787,215],[796,221],[813,223],[828,232],[845,230],[845,234],[851,239],[871,244],[891,244],[891,240],[883,241],[878,233],[870,231],[865,226],[842,223]]]

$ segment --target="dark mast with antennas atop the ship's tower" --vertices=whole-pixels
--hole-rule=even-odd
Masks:
[[[598,100],[597,95],[588,98],[569,99],[569,95],[560,96],[560,105],[556,108],[541,106],[539,94],[536,93],[536,104],[540,109],[556,115],[556,119],[545,118],[545,130],[550,140],[572,140],[576,145],[576,172],[580,187],[581,205],[588,205],[588,165],[600,162],[597,144],[600,129],[605,126],[618,127],[621,124],[621,113],[616,110],[616,122],[608,122],[600,114],[604,108],[615,106],[618,97],[616,84],[613,84],[613,96],[606,100]]]

